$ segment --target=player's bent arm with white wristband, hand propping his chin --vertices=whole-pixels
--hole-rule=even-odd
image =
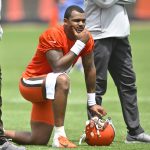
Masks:
[[[53,72],[65,72],[68,70],[89,40],[89,34],[86,29],[80,33],[74,28],[73,31],[76,42],[66,55],[63,55],[62,50],[49,50],[46,53],[47,60],[51,65]]]

